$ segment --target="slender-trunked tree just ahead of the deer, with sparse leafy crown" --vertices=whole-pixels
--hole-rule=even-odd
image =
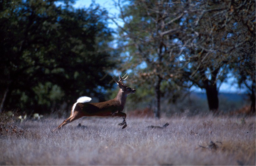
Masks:
[[[168,35],[180,30],[179,20],[182,16],[178,10],[180,4],[169,8],[169,5],[163,1],[135,0],[124,6],[121,3],[117,5],[121,10],[121,20],[124,22],[124,26],[120,27],[123,42],[119,45],[126,61],[123,66],[136,73],[135,80],[140,87],[147,82],[150,87],[146,89],[154,89],[156,105],[154,114],[159,118],[160,98],[165,93],[161,87],[166,84],[165,82],[169,82],[169,88],[175,87],[170,83],[170,78],[176,79],[176,76],[171,72],[170,66],[173,60],[169,58],[167,47],[169,43],[173,43],[173,39]],[[170,12],[171,10],[173,11]],[[170,22],[164,26],[162,19],[166,17]]]

